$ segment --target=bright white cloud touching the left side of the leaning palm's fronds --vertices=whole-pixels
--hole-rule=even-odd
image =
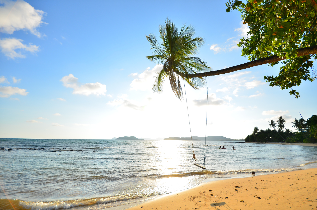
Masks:
[[[154,76],[163,69],[162,64],[157,64],[153,69],[150,70],[150,67],[146,68],[141,74],[134,73],[130,74],[131,76],[137,76],[138,78],[134,79],[130,84],[130,90],[151,90],[154,84]]]

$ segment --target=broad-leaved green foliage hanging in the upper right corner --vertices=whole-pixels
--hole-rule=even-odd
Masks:
[[[243,48],[242,56],[248,56],[251,61],[273,55],[284,57],[279,75],[264,76],[264,79],[270,86],[290,89],[290,94],[300,97],[293,87],[303,80],[316,79],[312,68],[316,52],[297,56],[296,51],[309,50],[317,44],[315,0],[229,0],[226,6],[227,12],[239,10],[243,24],[250,28],[250,37],[243,37],[238,44]]]

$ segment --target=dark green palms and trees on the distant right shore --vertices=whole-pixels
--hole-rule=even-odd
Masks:
[[[266,130],[255,127],[253,133],[245,138],[245,141],[256,142],[281,142],[287,143],[303,142],[316,143],[317,142],[317,115],[312,115],[308,120],[303,118],[296,119],[292,122],[293,128],[297,131],[293,132],[289,128],[285,128],[285,118],[280,116],[275,122],[269,121],[269,127]],[[285,130],[285,131],[284,131]]]

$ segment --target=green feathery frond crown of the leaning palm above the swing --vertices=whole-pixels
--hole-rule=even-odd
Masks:
[[[202,77],[190,78],[188,75],[211,70],[207,63],[200,58],[192,57],[197,54],[204,39],[202,37],[193,38],[195,35],[193,26],[183,25],[179,30],[169,19],[166,19],[165,25],[159,26],[159,33],[162,43],[159,43],[152,33],[146,36],[154,54],[146,56],[147,59],[163,64],[163,69],[155,77],[152,90],[162,92],[164,80],[168,77],[174,94],[181,100],[183,92],[179,77],[194,89],[199,89],[205,84],[205,80]],[[179,76],[179,73],[183,73],[184,76]]]

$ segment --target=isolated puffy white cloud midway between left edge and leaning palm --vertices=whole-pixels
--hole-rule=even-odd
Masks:
[[[78,78],[74,77],[74,75],[69,74],[61,78],[61,82],[67,88],[73,88],[73,94],[81,94],[81,95],[106,95],[107,92],[106,85],[101,84],[100,82],[95,83],[86,83],[81,84],[78,82]]]

